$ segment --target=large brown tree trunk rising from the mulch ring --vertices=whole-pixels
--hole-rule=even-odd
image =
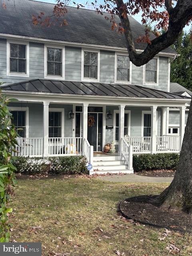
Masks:
[[[192,213],[192,103],[176,174],[170,186],[158,196],[156,203],[165,209]]]

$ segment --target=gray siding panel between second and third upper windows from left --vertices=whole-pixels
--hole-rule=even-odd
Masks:
[[[65,47],[65,80],[81,80],[81,48]]]

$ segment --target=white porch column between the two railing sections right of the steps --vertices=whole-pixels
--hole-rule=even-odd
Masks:
[[[151,151],[156,153],[157,106],[151,106]]]

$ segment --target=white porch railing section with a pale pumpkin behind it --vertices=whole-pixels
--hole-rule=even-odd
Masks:
[[[82,138],[49,138],[48,154],[49,156],[81,155]]]

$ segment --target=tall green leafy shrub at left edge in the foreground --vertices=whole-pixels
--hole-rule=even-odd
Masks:
[[[12,148],[17,144],[17,133],[11,122],[12,114],[8,108],[10,101],[0,91],[0,242],[9,242],[12,224],[8,223],[8,216],[12,208],[8,208],[7,204],[16,184]]]

